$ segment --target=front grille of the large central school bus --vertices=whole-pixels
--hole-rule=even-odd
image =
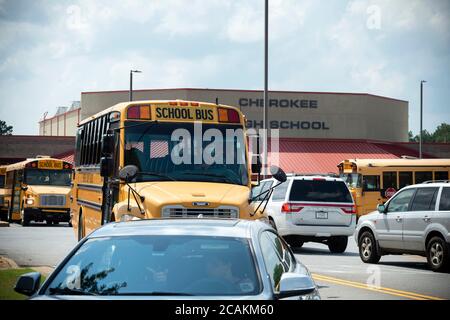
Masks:
[[[162,210],[163,217],[196,217],[203,215],[204,217],[217,218],[238,218],[239,210],[235,207],[218,207],[218,208],[185,208],[182,206],[164,207]]]

